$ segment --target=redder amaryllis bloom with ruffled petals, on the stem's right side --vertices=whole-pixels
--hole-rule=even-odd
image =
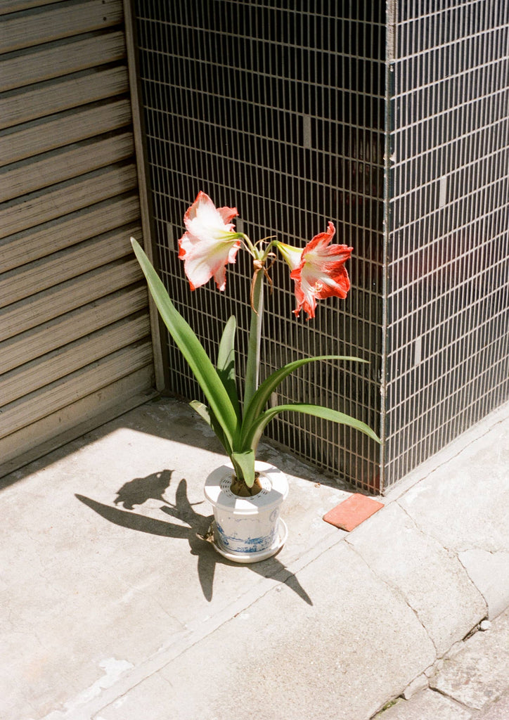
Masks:
[[[325,297],[345,298],[350,289],[350,279],[345,263],[353,248],[346,245],[331,245],[335,234],[332,222],[325,233],[315,235],[301,251],[284,243],[277,243],[281,255],[292,269],[290,277],[295,282],[297,307],[307,312],[307,319],[315,317],[317,300]]]

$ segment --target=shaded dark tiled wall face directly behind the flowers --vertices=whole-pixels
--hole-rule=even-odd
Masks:
[[[286,266],[274,266],[262,372],[303,354],[362,356],[369,368],[307,369],[278,401],[323,402],[377,426],[384,17],[370,1],[348,5],[144,0],[135,15],[156,244],[172,296],[212,351],[235,312],[246,348],[250,269],[239,258],[224,296],[212,283],[191,294],[177,260],[182,217],[199,189],[238,207],[253,240],[277,234],[303,246],[333,220],[339,242],[355,248],[350,297],[321,302],[314,321],[296,320]],[[197,395],[172,346],[168,363],[171,390]],[[360,433],[293,415],[269,434],[359,487],[377,487],[379,449]]]

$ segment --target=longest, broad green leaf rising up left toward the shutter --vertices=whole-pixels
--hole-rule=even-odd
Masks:
[[[226,440],[230,446],[233,446],[238,438],[238,417],[225,386],[207,356],[202,343],[200,343],[192,328],[171,302],[166,288],[150,264],[148,257],[134,238],[131,238],[131,243],[143,274],[147,279],[150,294],[161,313],[166,328],[168,328],[176,346],[186,359],[205,397],[207,397],[210,409],[225,433]]]

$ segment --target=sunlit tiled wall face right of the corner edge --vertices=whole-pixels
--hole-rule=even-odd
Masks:
[[[509,397],[509,4],[399,6],[386,486]]]

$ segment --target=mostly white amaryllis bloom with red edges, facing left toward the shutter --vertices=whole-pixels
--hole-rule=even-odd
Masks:
[[[184,215],[186,233],[179,240],[179,258],[191,289],[204,285],[211,277],[217,289],[226,287],[226,266],[235,263],[242,235],[231,222],[236,207],[215,207],[210,197],[199,192]]]

